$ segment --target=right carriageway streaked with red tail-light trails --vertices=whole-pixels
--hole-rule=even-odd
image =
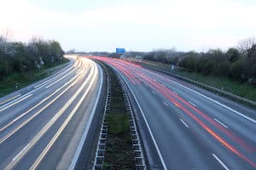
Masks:
[[[255,110],[122,59],[94,59],[125,80],[148,131],[149,169],[256,169]]]

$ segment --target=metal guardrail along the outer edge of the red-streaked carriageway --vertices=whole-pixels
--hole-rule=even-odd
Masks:
[[[148,69],[151,69],[151,70],[155,70],[155,71],[160,71],[160,72],[164,72],[166,74],[169,74],[171,75],[172,77],[177,77],[183,81],[186,81],[186,82],[192,82],[196,85],[199,85],[201,86],[202,88],[207,88],[207,89],[210,89],[212,91],[215,91],[215,92],[218,92],[219,94],[224,94],[226,96],[229,96],[230,98],[232,99],[236,99],[236,100],[239,100],[239,101],[242,101],[242,102],[245,102],[247,104],[250,104],[250,105],[253,105],[253,106],[256,106],[256,102],[255,101],[252,101],[250,99],[245,99],[245,98],[242,98],[241,96],[238,96],[236,94],[231,94],[230,92],[227,92],[227,91],[224,91],[222,89],[219,89],[219,88],[214,88],[210,85],[207,85],[205,83],[202,83],[202,82],[196,82],[195,80],[191,80],[187,77],[182,77],[182,76],[179,76],[177,74],[174,74],[173,72],[171,71],[165,71],[165,70],[162,70],[162,69],[159,69],[159,68],[154,68],[154,67],[151,67],[151,66],[148,66],[148,65],[143,65],[144,67],[148,68]]]

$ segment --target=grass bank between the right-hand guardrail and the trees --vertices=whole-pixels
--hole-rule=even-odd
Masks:
[[[159,62],[143,60],[142,62],[138,62],[138,64],[155,67],[158,69],[162,69],[165,71],[171,71],[171,66],[166,65]],[[188,77],[189,79],[195,80],[197,82],[203,82],[208,84],[214,88],[220,88],[231,94],[236,94],[246,99],[250,99],[256,101],[256,87],[246,82],[238,82],[231,80],[228,77],[214,77],[214,76],[204,76],[197,72],[189,72],[183,69],[176,69],[172,71],[173,73],[182,76]]]

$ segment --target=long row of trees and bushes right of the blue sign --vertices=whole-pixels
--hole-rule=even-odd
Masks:
[[[143,59],[178,65],[207,76],[230,77],[256,84],[256,42],[252,39],[243,40],[237,48],[230,48],[226,52],[220,49],[204,53],[156,50],[145,54]]]

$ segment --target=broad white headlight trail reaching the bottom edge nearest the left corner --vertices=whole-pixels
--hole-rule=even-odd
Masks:
[[[23,158],[23,156],[26,155],[26,153],[32,149],[32,147],[37,144],[38,140],[42,138],[42,136],[44,135],[44,133],[46,133],[50,127],[52,127],[52,125],[61,117],[61,115],[64,113],[64,111],[67,110],[67,108],[69,107],[69,105],[71,105],[73,103],[73,101],[79,96],[79,94],[82,92],[82,90],[84,89],[85,85],[87,84],[87,82],[89,82],[90,78],[93,77],[93,73],[94,71],[90,72],[90,76],[86,78],[85,82],[82,84],[82,86],[76,91],[75,94],[73,94],[73,96],[68,99],[66,105],[64,105],[60,111],[58,111],[55,116],[53,116],[49,122],[47,122],[44,127],[36,134],[35,137],[33,137],[33,139],[31,140],[30,144],[28,145],[28,147],[26,147],[26,150],[22,151],[20,153],[19,156],[16,157],[15,161],[11,161],[4,169],[13,169],[13,167],[15,167],[15,165]],[[92,82],[90,82],[92,85]]]

